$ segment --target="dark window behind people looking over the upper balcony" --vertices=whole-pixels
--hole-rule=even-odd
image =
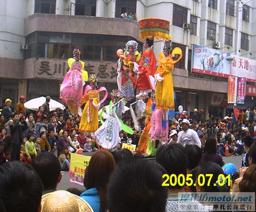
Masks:
[[[135,13],[136,12],[136,0],[116,0],[116,12],[115,17],[118,18],[124,12]]]

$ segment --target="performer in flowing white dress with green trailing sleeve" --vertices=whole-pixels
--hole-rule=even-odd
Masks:
[[[105,122],[95,131],[95,136],[98,139],[98,143],[104,149],[113,150],[117,147],[119,142],[119,131],[123,130],[126,133],[133,134],[133,130],[125,125],[119,118],[125,112],[124,99],[118,97],[117,91],[111,92],[111,102],[109,107],[110,114]]]

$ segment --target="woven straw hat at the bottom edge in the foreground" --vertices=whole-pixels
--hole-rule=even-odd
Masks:
[[[62,190],[43,195],[41,205],[41,212],[93,212],[81,197]]]

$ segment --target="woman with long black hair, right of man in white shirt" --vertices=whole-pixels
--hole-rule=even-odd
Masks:
[[[200,164],[214,162],[221,167],[224,165],[221,155],[217,154],[217,146],[215,137],[207,138],[205,142],[204,152],[201,157]]]

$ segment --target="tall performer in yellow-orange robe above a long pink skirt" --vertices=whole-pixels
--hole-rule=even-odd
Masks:
[[[156,70],[156,109],[152,115],[151,139],[166,141],[168,138],[168,113],[174,110],[174,87],[172,70],[174,64],[182,58],[182,51],[176,47],[172,51],[172,42],[164,41],[163,52],[159,55],[159,66]],[[179,59],[174,61],[173,55],[180,55]],[[172,118],[172,117],[170,117]]]

